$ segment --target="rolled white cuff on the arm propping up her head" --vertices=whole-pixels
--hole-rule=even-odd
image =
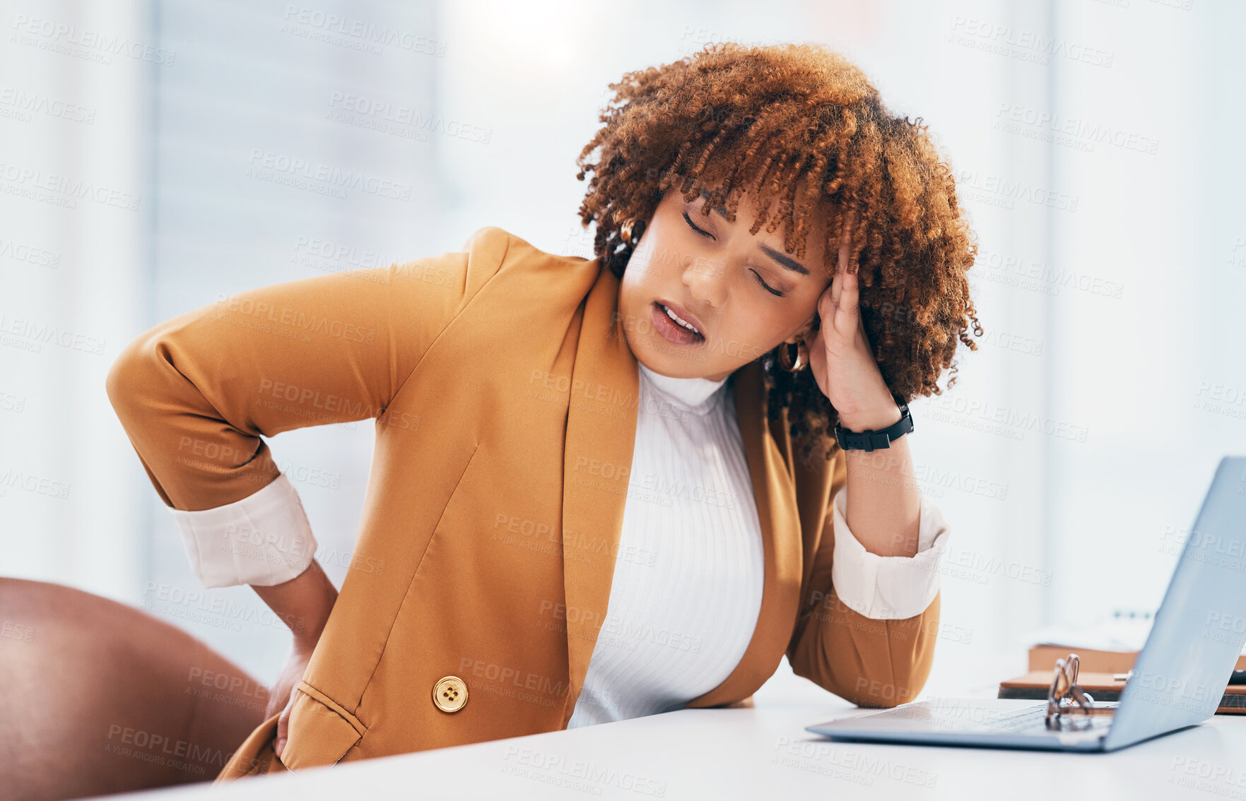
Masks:
[[[883,557],[865,549],[849,531],[847,486],[831,500],[835,552],[831,583],[846,607],[867,618],[902,620],[926,610],[938,594],[939,561],[947,547],[948,526],[938,507],[922,497],[917,553]]]

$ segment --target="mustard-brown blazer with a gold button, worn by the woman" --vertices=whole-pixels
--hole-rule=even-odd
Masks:
[[[375,419],[351,569],[283,757],[274,715],[218,781],[566,728],[606,617],[637,427],[618,291],[599,259],[490,227],[462,252],[244,291],[125,348],[108,395],[177,510],[274,480],[262,435]],[[938,595],[903,620],[839,602],[829,502],[844,455],[795,458],[761,379],[753,361],[730,389],[764,537],[760,617],[731,674],[689,706],[749,699],[784,654],[855,704],[911,700]]]

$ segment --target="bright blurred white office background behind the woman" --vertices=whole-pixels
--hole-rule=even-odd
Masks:
[[[911,442],[953,527],[939,664],[1020,669],[1033,629],[1154,610],[1217,460],[1246,452],[1240,4],[0,9],[0,574],[146,608],[265,681],[289,635],[249,588],[199,587],[105,395],[116,354],[485,225],[591,257],[574,158],[607,85],[711,41],[840,50],[959,176],[986,334]],[[272,442],[339,585],[371,435]]]

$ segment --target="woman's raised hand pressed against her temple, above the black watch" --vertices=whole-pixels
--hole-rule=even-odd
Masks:
[[[851,230],[852,219],[845,230]],[[857,293],[857,273],[849,270],[850,240],[840,244],[840,262],[831,285],[817,299],[821,326],[807,340],[809,367],[819,389],[840,412],[850,431],[878,430],[900,420],[882,371],[870,349]]]

